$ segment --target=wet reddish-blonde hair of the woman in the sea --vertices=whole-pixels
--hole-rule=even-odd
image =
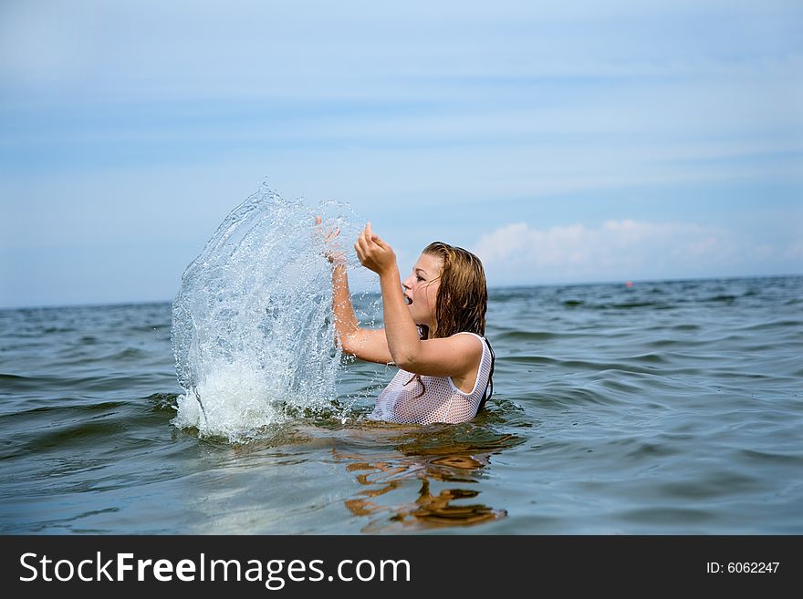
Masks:
[[[441,286],[435,299],[431,339],[468,331],[485,336],[488,289],[483,263],[473,253],[443,242],[427,245],[422,253],[443,261]]]

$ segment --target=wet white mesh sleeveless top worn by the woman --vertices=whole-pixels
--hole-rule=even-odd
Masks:
[[[452,377],[422,376],[419,380],[399,368],[377,398],[370,417],[399,424],[457,423],[474,418],[491,375],[491,350],[479,335],[467,331],[457,335],[474,335],[483,346],[483,357],[470,393],[454,387]]]

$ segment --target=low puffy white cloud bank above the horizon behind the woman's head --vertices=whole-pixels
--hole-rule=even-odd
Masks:
[[[492,284],[729,274],[756,256],[723,228],[630,219],[549,229],[516,222],[483,235],[474,252]]]

